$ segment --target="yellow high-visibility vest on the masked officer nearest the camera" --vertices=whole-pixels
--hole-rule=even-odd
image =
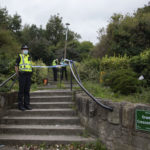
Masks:
[[[29,55],[19,54],[19,56],[19,71],[32,72],[32,63],[29,59]]]

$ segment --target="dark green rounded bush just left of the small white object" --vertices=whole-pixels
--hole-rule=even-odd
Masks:
[[[131,69],[115,70],[104,76],[104,85],[110,86],[114,92],[131,94],[140,90],[137,74]]]

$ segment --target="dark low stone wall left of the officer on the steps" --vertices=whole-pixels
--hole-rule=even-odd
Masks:
[[[0,118],[7,113],[8,108],[11,108],[17,101],[17,92],[0,93]]]

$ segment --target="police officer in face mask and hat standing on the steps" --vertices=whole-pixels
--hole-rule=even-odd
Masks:
[[[15,71],[19,77],[18,109],[31,110],[30,106],[30,85],[32,75],[31,58],[28,54],[28,46],[21,47],[22,53],[16,59]]]

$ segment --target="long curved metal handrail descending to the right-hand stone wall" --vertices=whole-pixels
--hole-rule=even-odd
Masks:
[[[101,107],[105,108],[105,109],[108,109],[110,111],[113,111],[113,108],[112,107],[109,107],[107,105],[104,105],[102,104],[100,101],[98,101],[92,94],[90,94],[87,89],[81,84],[81,82],[77,79],[76,75],[74,74],[74,71],[72,69],[72,64],[73,64],[73,61],[68,61],[69,62],[69,67],[70,67],[70,70],[72,72],[72,75],[73,77],[75,78],[76,82],[78,83],[78,85],[83,89],[83,91],[89,96],[91,97],[98,105],[100,105]]]

